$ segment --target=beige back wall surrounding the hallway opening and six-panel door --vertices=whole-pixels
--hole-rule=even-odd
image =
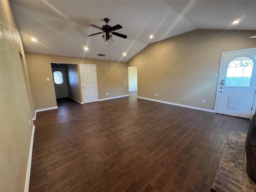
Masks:
[[[26,61],[36,109],[57,106],[51,63],[76,64],[78,68],[79,64],[96,64],[99,99],[128,94],[127,62],[111,61],[111,66],[109,66],[107,60],[38,54],[31,52],[26,52]],[[78,75],[80,78],[79,69]],[[46,81],[46,78],[50,78],[50,81]],[[75,89],[77,89],[77,85],[78,84],[76,82]],[[82,101],[81,86],[79,86],[79,89],[80,98],[78,96],[77,100]],[[77,92],[77,90],[75,92]],[[106,92],[108,92],[108,96],[106,95]]]

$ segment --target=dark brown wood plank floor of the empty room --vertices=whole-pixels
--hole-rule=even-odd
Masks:
[[[39,112],[30,192],[210,192],[229,130],[250,120],[129,97]]]

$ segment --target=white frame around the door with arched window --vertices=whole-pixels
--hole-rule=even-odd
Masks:
[[[217,84],[217,90],[216,90],[216,98],[215,98],[215,105],[214,105],[214,113],[216,113],[216,109],[217,109],[218,92],[219,92],[219,87],[220,87],[220,86],[219,86],[219,85],[220,85],[220,72],[221,72],[221,68],[222,68],[223,55],[224,55],[224,54],[228,54],[228,53],[236,53],[236,52],[243,52],[243,51],[250,51],[250,50],[255,50],[255,48],[248,48],[248,49],[227,51],[227,52],[222,52],[222,53],[221,53],[220,70],[219,70],[218,84]],[[256,67],[256,63],[254,63],[254,67]],[[254,70],[254,74],[252,74],[252,75],[256,75],[256,74],[255,74],[255,70]],[[254,93],[254,100],[253,100],[253,104],[252,104],[252,113],[251,113],[250,119],[252,119],[252,116],[254,115],[255,110],[256,110],[256,92]]]

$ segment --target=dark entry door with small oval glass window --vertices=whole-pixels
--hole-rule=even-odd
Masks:
[[[52,68],[56,98],[68,97],[68,82],[65,68]]]

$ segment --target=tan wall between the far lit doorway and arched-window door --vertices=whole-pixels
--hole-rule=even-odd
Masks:
[[[256,47],[255,34],[194,30],[148,45],[128,61],[138,66],[138,96],[214,110],[221,53]]]

